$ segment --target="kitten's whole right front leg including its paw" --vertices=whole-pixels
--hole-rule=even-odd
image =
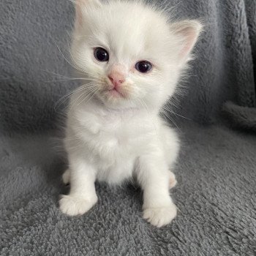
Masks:
[[[143,189],[143,218],[162,227],[170,223],[177,208],[169,195],[170,171],[159,154],[140,157],[138,181]]]

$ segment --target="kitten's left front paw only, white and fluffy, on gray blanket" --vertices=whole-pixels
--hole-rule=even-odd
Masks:
[[[64,214],[70,216],[82,215],[89,211],[97,203],[97,200],[97,196],[89,200],[75,195],[62,195],[61,200],[59,200],[59,208]]]

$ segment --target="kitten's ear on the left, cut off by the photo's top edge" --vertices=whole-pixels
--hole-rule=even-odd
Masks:
[[[100,0],[75,0],[75,25],[80,26],[83,23],[83,10],[89,8],[99,8],[102,6]]]

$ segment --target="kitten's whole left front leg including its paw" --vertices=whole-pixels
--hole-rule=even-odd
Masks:
[[[70,192],[62,195],[59,208],[64,214],[81,215],[97,203],[94,181],[96,170],[79,157],[69,157]]]

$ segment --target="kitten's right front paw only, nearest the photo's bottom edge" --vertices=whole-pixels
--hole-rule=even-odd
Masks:
[[[177,208],[174,203],[170,206],[159,208],[145,208],[143,211],[143,219],[146,219],[151,225],[162,227],[169,224],[177,215]]]

